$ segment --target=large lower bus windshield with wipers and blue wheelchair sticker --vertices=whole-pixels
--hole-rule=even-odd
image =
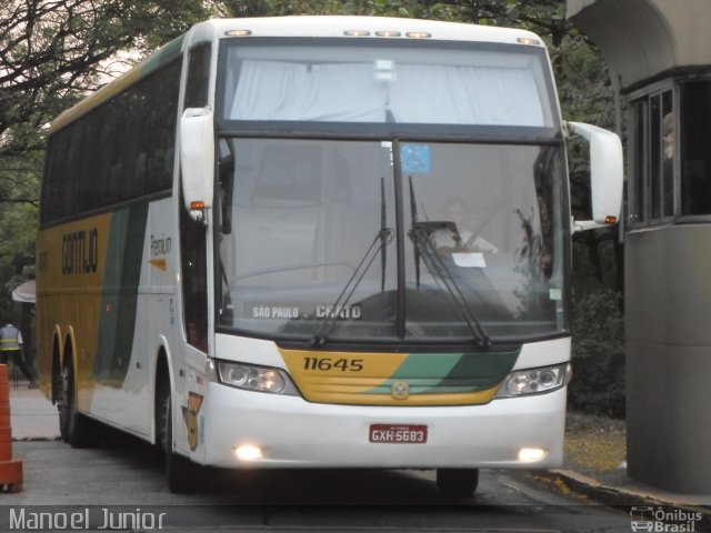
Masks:
[[[567,330],[558,144],[223,137],[221,329],[495,341]]]

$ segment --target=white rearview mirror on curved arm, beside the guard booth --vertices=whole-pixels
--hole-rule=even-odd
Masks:
[[[573,231],[607,228],[618,222],[622,208],[622,142],[611,131],[582,122],[568,122],[568,130],[590,144],[592,220],[573,221]]]

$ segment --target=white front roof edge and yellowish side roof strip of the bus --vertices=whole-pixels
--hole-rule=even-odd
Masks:
[[[357,37],[353,37],[356,34]],[[442,22],[421,19],[351,16],[296,16],[244,19],[213,19],[193,26],[187,33],[160,48],[147,60],[133,67],[93,94],[57,117],[50,133],[62,129],[79,117],[131,87],[138,80],[163,67],[183,49],[199,42],[223,38],[250,37],[320,37],[342,39],[427,39],[435,41],[472,41],[543,47],[535,33],[512,28]]]

